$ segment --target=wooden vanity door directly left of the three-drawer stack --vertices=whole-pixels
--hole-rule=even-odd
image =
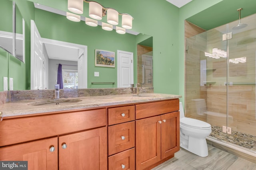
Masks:
[[[60,170],[107,170],[107,127],[59,137]]]

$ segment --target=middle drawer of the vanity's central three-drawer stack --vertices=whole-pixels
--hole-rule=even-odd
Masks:
[[[108,127],[108,155],[135,146],[135,121]]]

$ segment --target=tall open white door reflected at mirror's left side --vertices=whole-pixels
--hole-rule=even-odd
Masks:
[[[36,24],[31,20],[31,59],[30,59],[30,88],[38,90],[43,88],[43,60],[41,36]]]

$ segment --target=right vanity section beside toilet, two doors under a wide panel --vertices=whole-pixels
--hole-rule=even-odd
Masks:
[[[178,110],[179,100],[136,105],[136,170],[150,169],[180,150]]]

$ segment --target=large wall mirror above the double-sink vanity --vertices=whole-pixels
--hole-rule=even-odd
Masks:
[[[22,5],[22,7],[18,6],[18,8],[24,9],[26,6],[26,8],[29,8],[27,11],[30,14],[29,17],[26,14],[27,16],[24,19],[25,32],[28,30],[26,29],[28,25],[30,25],[28,33],[33,32],[32,21],[30,21],[33,20],[41,37],[38,45],[40,46],[40,51],[42,51],[40,60],[43,63],[43,73],[38,75],[37,72],[33,75],[35,72],[30,71],[40,66],[36,65],[37,63],[32,59],[34,55],[33,42],[31,41],[33,35],[28,36],[26,34],[26,45],[28,41],[31,45],[30,48],[26,48],[25,52],[26,60],[30,59],[31,63],[27,62],[25,70],[22,70],[22,72],[25,71],[25,76],[23,77],[26,80],[26,87],[24,89],[15,88],[16,81],[14,79],[14,90],[53,89],[58,79],[59,64],[62,65],[64,88],[117,88],[118,51],[127,51],[133,54],[134,81],[132,84],[143,83],[142,86],[145,87],[153,86],[152,68],[149,68],[150,66],[152,67],[153,49],[151,36],[133,33],[132,31],[131,33],[120,35],[114,30],[105,31],[100,25],[90,27],[84,21],[73,22],[67,20],[66,12],[49,6],[30,1],[25,1]],[[114,52],[115,67],[95,66],[96,49]],[[84,57],[85,61],[79,64],[78,59],[80,57]],[[78,68],[79,66],[81,67]],[[82,70],[80,71],[81,68]],[[11,69],[9,66],[9,70]],[[82,78],[79,75],[79,71],[83,73]],[[33,78],[31,79],[32,76],[35,77],[34,80]],[[37,82],[39,83],[37,84]],[[106,82],[106,84],[101,84],[102,82]],[[129,87],[132,84],[129,84]]]

